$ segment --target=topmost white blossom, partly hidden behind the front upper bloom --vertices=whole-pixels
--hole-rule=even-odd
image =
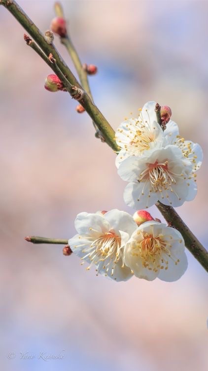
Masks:
[[[178,135],[178,127],[172,120],[168,129],[163,129],[157,123],[155,113],[156,102],[150,101],[140,109],[139,117],[125,120],[115,133],[115,140],[121,150],[116,157],[116,166],[129,156],[140,156],[146,150],[155,149],[169,144],[166,136],[174,140]],[[170,143],[171,144],[171,143]]]

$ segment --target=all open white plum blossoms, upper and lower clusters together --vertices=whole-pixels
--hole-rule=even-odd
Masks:
[[[147,102],[139,117],[125,120],[115,135],[121,148],[116,158],[118,174],[129,182],[124,200],[136,210],[158,200],[180,206],[197,192],[196,171],[202,163],[202,149],[179,136],[169,107],[161,109],[160,126],[155,106],[156,102]],[[186,271],[180,232],[154,220],[145,210],[133,217],[116,209],[80,213],[75,229],[78,234],[69,239],[70,249],[89,263],[87,270],[94,265],[97,274],[117,281],[134,275],[149,281],[175,281]]]

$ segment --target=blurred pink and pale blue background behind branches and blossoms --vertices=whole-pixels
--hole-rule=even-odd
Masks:
[[[19,4],[42,32],[49,28],[53,1]],[[99,68],[90,84],[113,128],[156,100],[171,106],[182,136],[202,145],[197,197],[177,211],[208,245],[208,2],[63,5],[81,60]],[[69,94],[44,90],[51,70],[2,6],[0,25],[1,370],[207,371],[208,279],[188,251],[179,281],[116,283],[86,272],[62,246],[24,241],[69,238],[81,211],[134,210],[123,201],[114,153]],[[58,38],[55,44],[74,71]],[[23,360],[21,352],[35,357]],[[64,357],[46,362],[40,352]]]

